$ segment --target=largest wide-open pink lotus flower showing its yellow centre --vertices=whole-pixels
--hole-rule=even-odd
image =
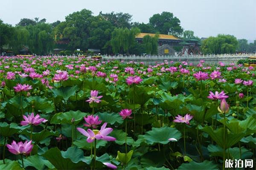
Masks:
[[[111,137],[111,136],[107,136],[109,133],[111,133],[113,131],[112,128],[108,127],[106,128],[108,123],[104,123],[101,127],[100,130],[90,130],[90,129],[87,129],[84,130],[83,128],[80,128],[80,127],[77,127],[76,129],[82,133],[84,136],[87,136],[87,142],[88,143],[92,143],[94,142],[95,139],[102,139],[102,140],[105,140],[105,141],[115,141],[116,138],[114,137]]]

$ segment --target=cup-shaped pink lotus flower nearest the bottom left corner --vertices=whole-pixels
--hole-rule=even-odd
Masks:
[[[33,148],[33,144],[32,140],[31,141],[26,141],[26,142],[18,142],[16,143],[15,141],[12,141],[12,144],[6,144],[6,147],[8,147],[8,150],[15,154],[15,155],[19,155],[19,154],[24,154],[27,155],[32,151]]]

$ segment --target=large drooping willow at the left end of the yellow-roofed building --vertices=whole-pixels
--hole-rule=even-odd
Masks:
[[[115,28],[111,34],[113,53],[129,54],[129,50],[133,48],[136,43],[135,36],[139,33],[139,28]]]

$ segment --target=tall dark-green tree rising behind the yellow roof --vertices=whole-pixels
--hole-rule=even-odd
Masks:
[[[162,14],[154,14],[149,18],[149,24],[160,34],[181,35],[183,32],[180,20],[170,12],[164,11]]]

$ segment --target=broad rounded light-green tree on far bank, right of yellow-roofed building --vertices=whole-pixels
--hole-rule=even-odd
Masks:
[[[204,54],[235,53],[238,41],[233,35],[219,34],[217,37],[209,37],[201,46]]]

